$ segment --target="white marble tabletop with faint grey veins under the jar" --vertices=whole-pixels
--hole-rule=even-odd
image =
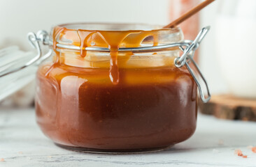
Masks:
[[[199,114],[197,131],[170,150],[148,154],[85,154],[55,146],[38,128],[34,109],[0,109],[1,166],[256,166],[256,122]],[[247,159],[234,154],[241,149]]]

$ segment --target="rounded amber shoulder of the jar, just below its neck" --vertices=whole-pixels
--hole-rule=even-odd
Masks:
[[[120,68],[118,70],[122,84],[161,84],[164,82],[193,82],[191,74],[185,67],[146,67]],[[64,78],[85,79],[95,84],[111,84],[109,68],[81,68],[43,63],[38,68],[38,77],[62,81]]]

